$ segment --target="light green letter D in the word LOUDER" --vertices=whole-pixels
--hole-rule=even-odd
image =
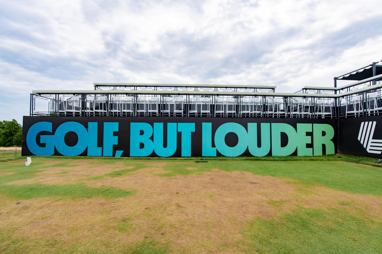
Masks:
[[[281,133],[288,136],[288,144],[281,147]],[[287,123],[272,123],[272,156],[287,156],[295,152],[297,147],[295,128]]]

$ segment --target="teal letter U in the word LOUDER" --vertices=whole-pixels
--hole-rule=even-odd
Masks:
[[[257,142],[257,123],[248,123],[248,150],[253,156],[262,157],[270,151],[270,123],[261,123],[261,147]]]

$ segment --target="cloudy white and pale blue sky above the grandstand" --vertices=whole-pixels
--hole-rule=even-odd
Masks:
[[[381,7],[380,0],[0,0],[0,120],[22,122],[32,89],[94,82],[278,92],[333,86],[333,77],[382,59]]]

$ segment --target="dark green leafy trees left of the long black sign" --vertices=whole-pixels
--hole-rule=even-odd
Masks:
[[[0,147],[21,146],[23,127],[15,119],[0,121]]]

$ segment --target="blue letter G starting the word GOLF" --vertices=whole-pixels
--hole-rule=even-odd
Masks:
[[[26,134],[26,145],[31,153],[34,155],[53,155],[54,153],[54,139],[53,135],[41,135],[40,142],[45,143],[45,147],[40,147],[36,143],[36,136],[41,131],[49,131],[52,133],[52,123],[38,122],[29,128]]]

